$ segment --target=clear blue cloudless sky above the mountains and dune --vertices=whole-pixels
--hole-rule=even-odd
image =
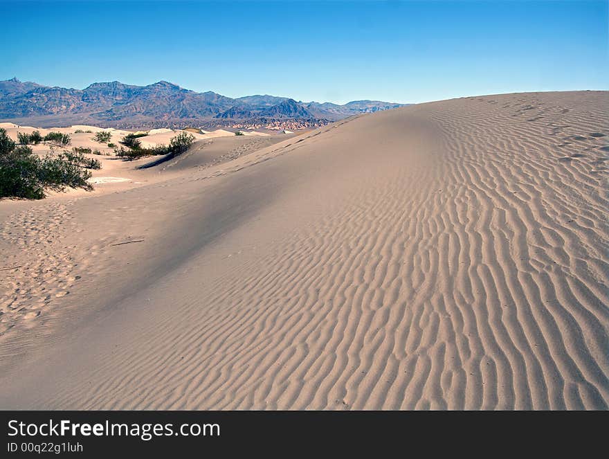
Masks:
[[[344,103],[609,89],[608,1],[0,0],[0,80]]]

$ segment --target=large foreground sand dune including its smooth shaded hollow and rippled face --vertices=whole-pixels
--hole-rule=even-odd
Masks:
[[[0,204],[69,292],[6,334],[0,407],[607,408],[608,110],[433,102]]]

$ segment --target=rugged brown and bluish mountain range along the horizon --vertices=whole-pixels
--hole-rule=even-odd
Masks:
[[[134,86],[118,81],[85,89],[47,87],[17,78],[0,81],[0,120],[40,127],[92,124],[103,127],[318,126],[356,114],[400,107],[377,100],[345,105],[297,102],[278,96],[230,98],[160,81]]]

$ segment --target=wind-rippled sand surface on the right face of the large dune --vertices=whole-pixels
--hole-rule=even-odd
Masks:
[[[464,98],[307,138],[273,161],[332,168],[342,142],[354,183],[226,255],[137,347],[45,403],[606,409],[608,107],[607,93]]]

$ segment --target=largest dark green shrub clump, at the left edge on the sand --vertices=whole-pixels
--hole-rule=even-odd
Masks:
[[[0,128],[0,197],[42,199],[44,189],[63,190],[66,186],[91,190],[91,172],[60,156],[39,158],[26,145],[15,147]]]

